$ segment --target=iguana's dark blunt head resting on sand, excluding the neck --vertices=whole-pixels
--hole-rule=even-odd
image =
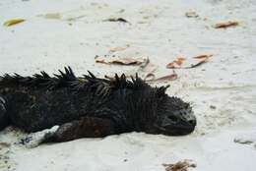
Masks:
[[[149,111],[152,118],[146,126],[146,133],[167,136],[190,134],[196,127],[196,117],[189,103],[165,93],[166,87],[157,87],[157,105]]]

